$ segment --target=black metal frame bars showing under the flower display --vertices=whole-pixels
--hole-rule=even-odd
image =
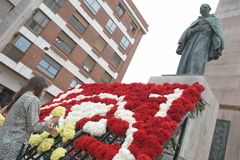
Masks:
[[[181,128],[180,134],[178,134],[178,129],[176,129],[173,133],[173,136],[177,133],[177,148],[175,150],[175,154],[173,155],[173,160],[177,160],[180,149],[181,149],[181,144],[184,138],[185,130],[186,130],[186,124],[188,120],[188,114],[186,114],[183,118],[182,121],[179,123],[178,127]],[[70,141],[63,143],[62,138],[60,136],[55,138],[55,143],[51,147],[50,150],[45,151],[41,154],[37,154],[37,147],[31,147],[27,146],[25,148],[25,152],[22,155],[22,160],[50,160],[50,156],[52,152],[58,148],[58,147],[63,147],[67,150],[67,153],[65,154],[64,157],[60,158],[60,160],[96,160],[95,157],[92,157],[88,155],[87,151],[84,150],[78,150],[73,147],[73,143],[76,139],[88,135],[88,133],[83,132],[83,130],[76,130],[75,137],[71,139]],[[122,145],[125,141],[125,137],[118,137],[117,135],[113,134],[108,128],[107,128],[107,133],[104,134],[101,137],[94,137],[97,138],[98,141],[104,142],[105,144],[112,144],[112,143],[119,143]],[[171,137],[172,138],[172,137]],[[163,146],[164,148],[167,148],[167,145],[170,143],[171,138],[166,142],[166,144]],[[162,155],[156,156],[154,160],[160,160],[164,157],[164,153]]]

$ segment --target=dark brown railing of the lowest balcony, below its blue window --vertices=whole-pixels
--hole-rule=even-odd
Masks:
[[[4,48],[3,54],[6,55],[11,60],[13,60],[14,62],[18,63],[22,59],[25,53],[22,52],[17,47],[15,47],[13,44],[8,44]]]

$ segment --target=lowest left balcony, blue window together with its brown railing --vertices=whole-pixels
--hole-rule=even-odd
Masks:
[[[18,63],[31,45],[32,43],[25,37],[18,35],[3,49],[3,54]]]

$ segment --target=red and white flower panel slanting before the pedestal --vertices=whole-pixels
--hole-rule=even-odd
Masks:
[[[40,120],[50,119],[51,111],[63,106],[66,114],[60,125],[72,121],[91,136],[102,136],[107,127],[126,136],[121,146],[83,136],[74,142],[76,149],[88,150],[99,160],[150,160],[162,153],[162,145],[181,118],[194,110],[203,90],[199,83],[78,84],[42,105]]]

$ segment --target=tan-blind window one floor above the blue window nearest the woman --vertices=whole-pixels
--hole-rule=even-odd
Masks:
[[[76,43],[63,31],[60,32],[54,43],[67,54],[70,54],[73,48],[76,46]]]

